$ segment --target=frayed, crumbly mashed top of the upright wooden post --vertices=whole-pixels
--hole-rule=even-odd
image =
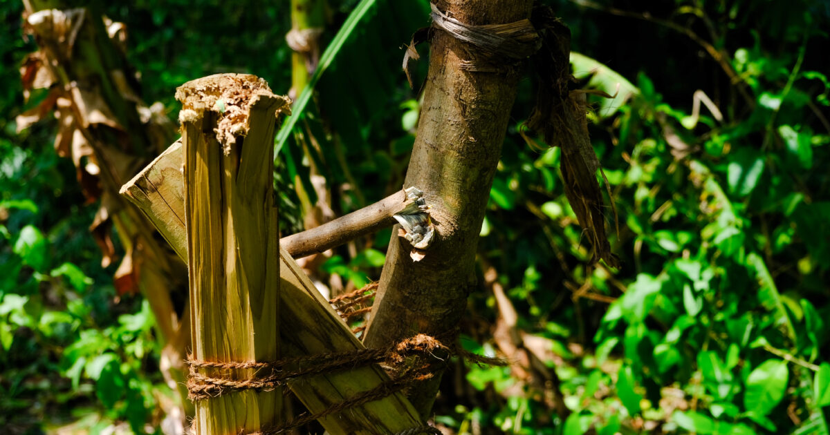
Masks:
[[[176,89],[182,104],[179,123],[192,123],[207,111],[218,114],[216,138],[227,154],[250,128],[251,108],[267,102],[276,116],[291,114],[291,99],[271,92],[268,83],[251,74],[217,74],[191,80]]]

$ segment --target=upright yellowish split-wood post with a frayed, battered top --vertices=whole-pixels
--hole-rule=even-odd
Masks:
[[[228,99],[224,110],[210,109],[217,97]],[[189,111],[181,118],[193,358],[275,360],[280,259],[271,162],[275,114],[288,100],[252,75],[193,80],[177,98]],[[203,370],[231,379],[252,375]],[[279,389],[199,400],[193,428],[198,435],[256,432],[281,423],[281,401]]]

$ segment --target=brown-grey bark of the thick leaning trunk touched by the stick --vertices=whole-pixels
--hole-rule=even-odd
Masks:
[[[481,26],[530,17],[530,0],[447,0],[437,7],[460,22]],[[444,31],[434,31],[417,139],[405,186],[418,186],[432,209],[437,240],[419,262],[393,230],[365,343],[383,347],[423,332],[447,336],[457,326],[475,284],[481,221],[519,75],[463,70],[476,52]],[[422,416],[432,408],[436,378],[413,389]]]

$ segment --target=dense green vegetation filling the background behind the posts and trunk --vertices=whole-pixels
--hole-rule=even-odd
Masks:
[[[363,21],[337,37],[358,2],[330,3],[325,41],[344,44],[278,157],[286,233],[316,202],[311,167],[338,215],[399,189],[420,109],[398,47],[427,25],[427,2],[364,0]],[[590,116],[623,267],[588,263],[559,149],[522,138],[535,98],[522,82],[461,325],[470,350],[520,364],[455,365],[436,422],[457,433],[828,434],[830,3],[550,3],[573,31],[582,87],[615,95],[591,95]],[[115,265],[101,267],[87,232],[95,208],[52,148],[55,123],[16,131],[37,104],[18,85],[35,49],[21,12],[0,2],[0,428],[154,433],[177,399],[147,303],[116,296]],[[291,87],[282,2],[144,0],[105,13],[129,28],[144,99],[171,117],[173,89],[203,75]],[[389,234],[338,249],[317,273],[333,288],[377,279]]]

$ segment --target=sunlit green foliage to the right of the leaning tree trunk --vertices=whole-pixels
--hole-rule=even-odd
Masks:
[[[626,75],[572,56],[583,86],[613,95],[620,84],[616,99],[589,95],[593,144],[620,213],[612,241],[620,271],[583,266],[590,247],[562,195],[554,151],[534,156],[509,132],[481,250],[507,288],[526,283],[530,270],[543,277],[509,293],[525,331],[544,336],[552,320],[584,331],[571,340],[592,357],[559,353],[551,344],[566,361],[556,369],[571,412],[559,420],[561,433],[616,432],[620,422],[627,433],[637,421],[670,433],[828,433],[822,407],[830,371],[820,313],[830,309],[823,224],[830,219],[823,168],[830,126],[822,114],[830,88],[823,75],[805,72],[820,68],[811,47],[827,46],[827,35],[813,20],[826,22],[828,11],[799,5],[821,12],[787,16],[788,28],[799,29],[789,45],[765,46],[768,35],[759,30],[754,46],[734,46],[724,38],[740,38],[718,27],[723,38],[716,46],[740,75],[727,86],[731,98],[715,99],[723,119],[701,113],[692,122],[691,86],[701,85],[673,82],[668,90],[688,99],[664,97],[666,80],[652,81],[666,74],[664,61]],[[741,7],[677,2],[678,11],[703,19],[767,13]],[[574,32],[574,47],[585,53],[592,51],[579,46],[579,35],[588,31]],[[681,52],[666,57],[691,61]],[[712,68],[722,74],[720,65]],[[749,102],[738,92],[742,82]],[[528,107],[522,96],[517,119]],[[610,273],[617,283],[608,281]],[[563,281],[572,292],[588,288],[613,303],[605,309],[577,292],[571,307],[556,297],[567,292]],[[476,310],[492,316],[491,297],[478,300]],[[584,399],[583,390],[603,389],[610,392]],[[532,396],[536,389],[525,391]],[[623,410],[616,423],[608,418],[613,409]]]

